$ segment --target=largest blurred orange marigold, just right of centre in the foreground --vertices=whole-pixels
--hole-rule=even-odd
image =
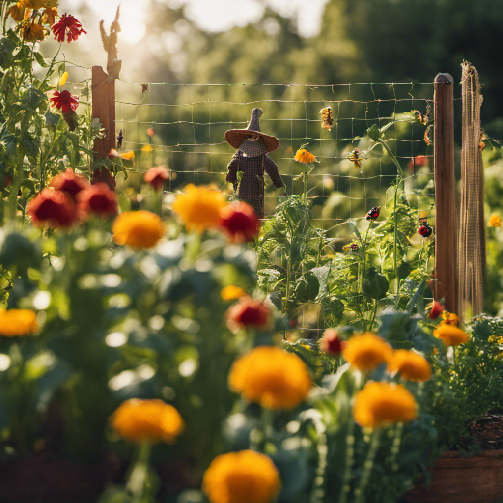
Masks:
[[[229,387],[249,402],[271,409],[292,409],[311,389],[304,362],[275,346],[259,346],[234,362]]]

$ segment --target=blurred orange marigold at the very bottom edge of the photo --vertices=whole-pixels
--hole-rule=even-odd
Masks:
[[[211,503],[270,503],[281,487],[271,458],[256,451],[217,456],[203,476]]]

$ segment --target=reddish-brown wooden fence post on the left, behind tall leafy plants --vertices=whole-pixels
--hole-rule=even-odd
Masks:
[[[107,157],[110,150],[116,147],[115,78],[109,79],[108,77],[101,66],[93,66],[93,119],[99,119],[105,129],[105,137],[94,140],[96,158]],[[97,182],[105,182],[111,189],[115,189],[115,180],[105,167],[95,170],[92,183]]]

